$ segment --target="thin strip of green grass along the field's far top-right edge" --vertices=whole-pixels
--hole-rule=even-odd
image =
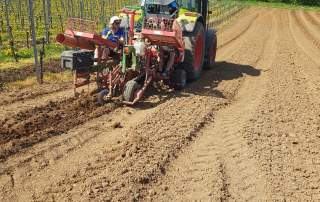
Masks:
[[[320,11],[319,6],[304,6],[304,5],[293,5],[288,3],[279,2],[261,2],[256,0],[241,1],[249,6],[261,6],[261,7],[272,7],[272,8],[284,8],[284,9],[301,9],[301,10],[314,10]]]

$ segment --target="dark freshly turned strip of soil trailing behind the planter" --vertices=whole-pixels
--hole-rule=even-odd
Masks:
[[[111,103],[98,106],[94,97],[75,97],[20,112],[0,122],[0,161],[45,139],[66,133],[90,119],[108,114]]]

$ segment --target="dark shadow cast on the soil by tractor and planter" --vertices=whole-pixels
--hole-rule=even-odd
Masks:
[[[222,81],[239,79],[245,75],[260,76],[260,74],[261,70],[250,65],[234,64],[225,61],[217,62],[211,68],[203,71],[200,80],[189,83],[183,91],[168,91],[166,89],[151,87],[145,95],[148,99],[142,100],[135,107],[148,109],[160,105],[174,97],[188,97],[192,95],[214,96],[226,99],[226,96],[217,89],[219,83]],[[158,101],[148,101],[150,99],[152,100],[152,98]]]

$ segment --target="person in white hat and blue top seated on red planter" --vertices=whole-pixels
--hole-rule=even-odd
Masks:
[[[117,43],[119,48],[121,48],[124,45],[124,37],[125,37],[125,32],[122,28],[120,28],[120,23],[121,23],[121,19],[118,16],[113,16],[110,19],[109,27],[104,28],[101,33],[102,38],[108,39],[114,43]],[[100,57],[99,57],[99,53],[100,53]],[[109,57],[113,57],[113,56],[116,56],[115,50],[107,47],[96,47],[94,52],[94,59],[96,62],[94,64],[95,65],[98,64],[97,60],[99,60],[99,58],[101,59],[100,61],[104,63]]]

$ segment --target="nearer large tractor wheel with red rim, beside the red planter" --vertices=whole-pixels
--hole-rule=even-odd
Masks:
[[[200,78],[205,56],[205,28],[198,21],[194,31],[184,35],[185,57],[183,67],[190,81]]]

